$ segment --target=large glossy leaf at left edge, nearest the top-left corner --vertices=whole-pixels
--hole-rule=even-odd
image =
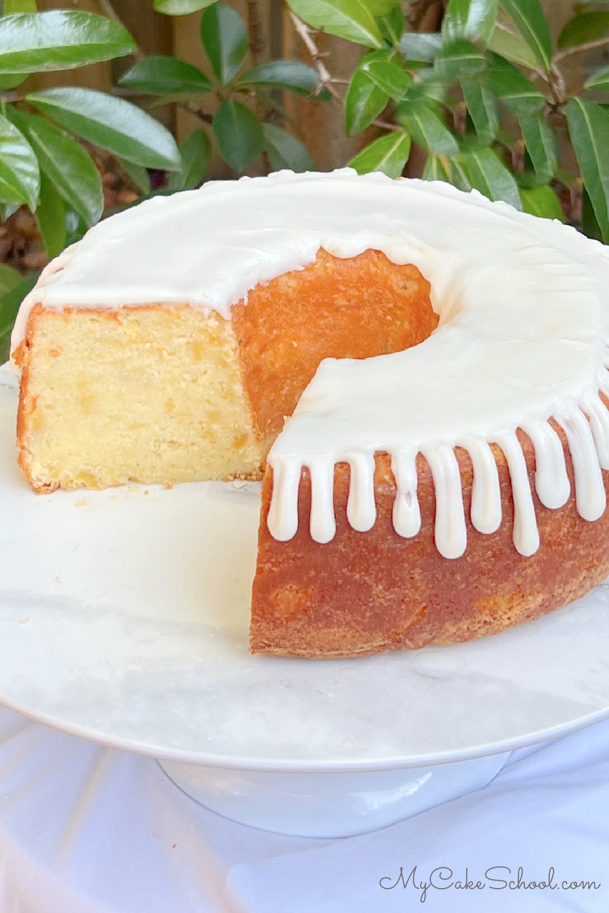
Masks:
[[[134,50],[124,26],[94,13],[53,9],[0,18],[0,73],[74,69]]]

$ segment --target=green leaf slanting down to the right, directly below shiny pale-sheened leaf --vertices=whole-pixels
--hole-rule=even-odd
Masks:
[[[90,155],[54,124],[36,114],[12,110],[11,117],[26,134],[42,172],[56,185],[64,200],[92,226],[103,212],[100,173]]]

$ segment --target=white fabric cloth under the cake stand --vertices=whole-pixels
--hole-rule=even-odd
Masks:
[[[429,880],[438,887],[406,887]],[[555,888],[500,887],[485,877]],[[466,879],[486,887],[457,888]],[[442,881],[442,874],[445,880]],[[380,887],[383,882],[385,888]],[[396,881],[396,887],[390,887]],[[600,887],[561,887],[595,881]],[[493,885],[494,887],[490,887]],[[606,913],[609,721],[514,751],[488,787],[342,840],[206,811],[155,761],[0,709],[0,913]]]

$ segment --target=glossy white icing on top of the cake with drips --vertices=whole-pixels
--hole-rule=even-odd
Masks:
[[[95,226],[49,265],[20,311],[14,347],[37,301],[58,309],[180,302],[229,318],[249,289],[305,267],[320,247],[337,257],[375,248],[415,264],[431,283],[440,322],[405,352],[320,364],[269,455],[268,529],[276,539],[298,530],[303,467],[311,477],[310,535],[334,537],[339,461],[351,468],[347,519],[370,530],[380,451],[390,454],[396,480],[394,528],[415,536],[422,453],[436,488],[436,546],[457,558],[467,524],[455,447],[472,460],[472,525],[490,533],[502,519],[489,446],[497,444],[509,467],[514,544],[530,555],[539,532],[516,430],[534,447],[541,503],[559,508],[570,485],[551,418],[568,439],[579,513],[601,516],[601,468],[609,468],[609,412],[599,396],[609,394],[607,248],[476,192],[342,169],[156,197]]]

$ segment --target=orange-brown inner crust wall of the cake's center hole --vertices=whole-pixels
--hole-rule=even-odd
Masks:
[[[281,430],[324,358],[372,358],[425,341],[438,316],[429,283],[379,250],[332,257],[253,289],[233,309],[244,383],[260,434]]]

